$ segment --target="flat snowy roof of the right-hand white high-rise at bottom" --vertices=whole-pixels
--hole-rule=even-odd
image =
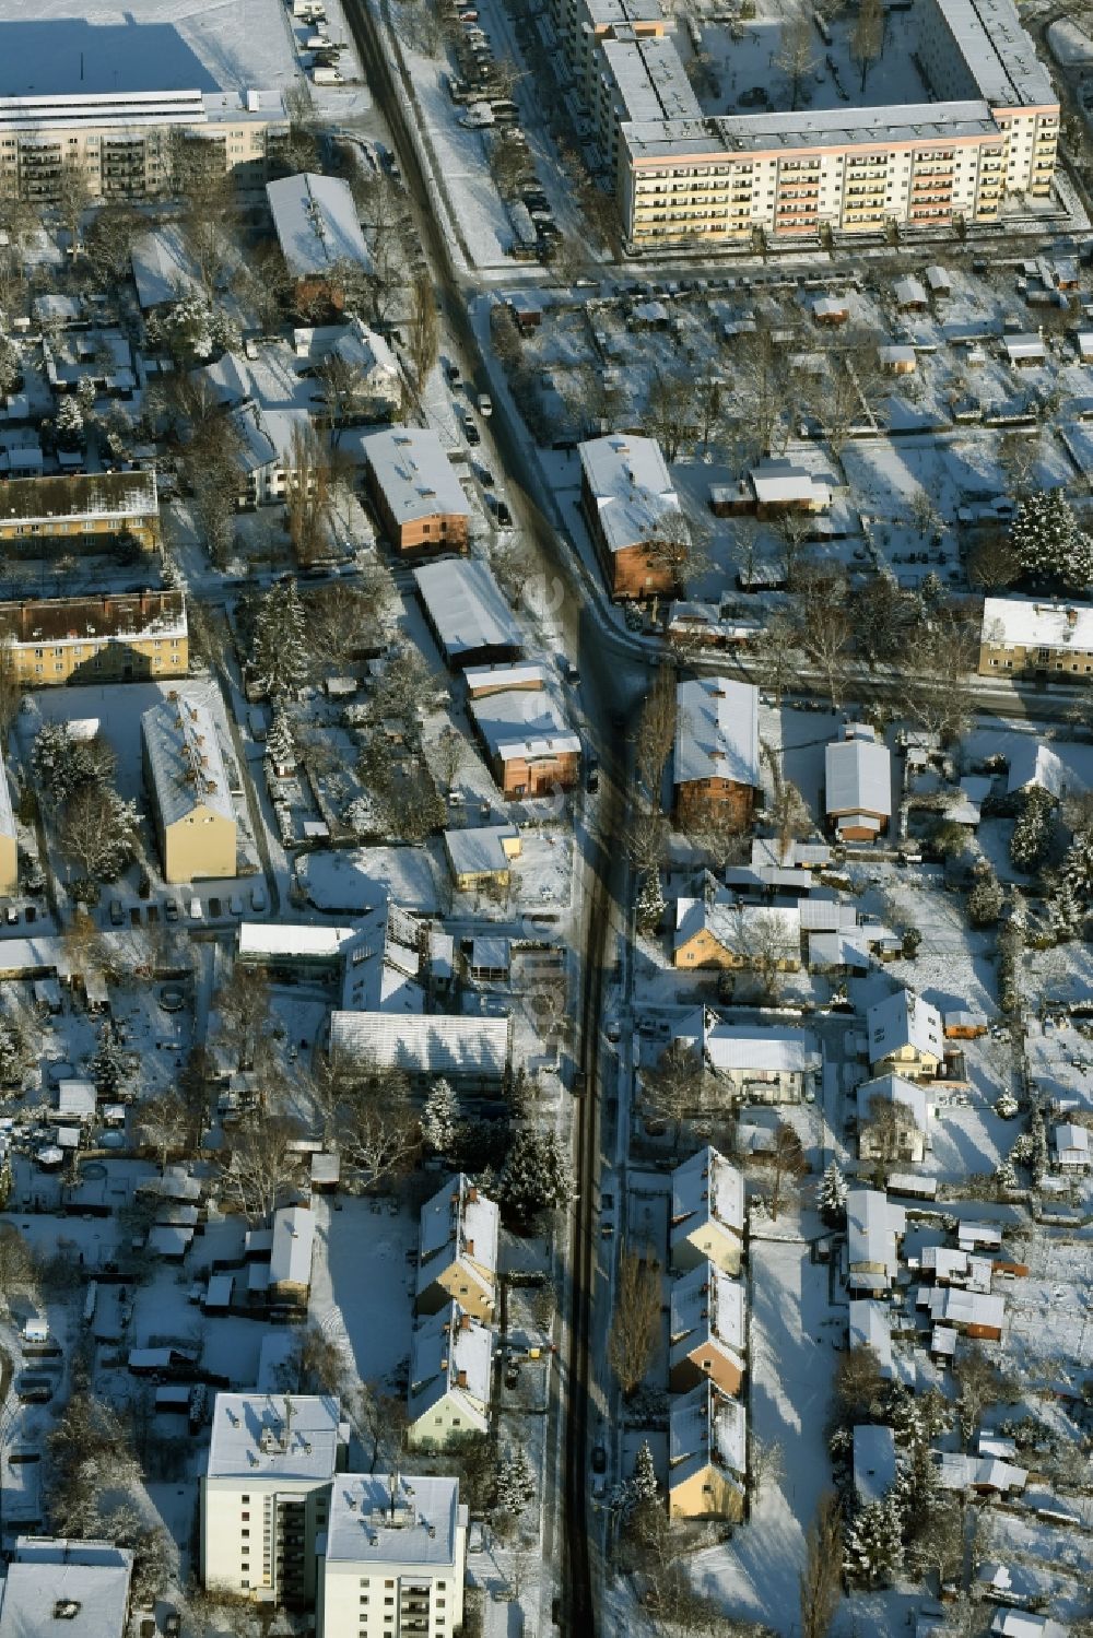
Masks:
[[[420,1474],[339,1473],[331,1487],[326,1563],[393,1571],[438,1571],[457,1561],[459,1479]]]

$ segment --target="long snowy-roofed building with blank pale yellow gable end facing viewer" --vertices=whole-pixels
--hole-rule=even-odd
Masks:
[[[208,708],[170,693],[141,717],[164,881],[236,875],[236,811]]]

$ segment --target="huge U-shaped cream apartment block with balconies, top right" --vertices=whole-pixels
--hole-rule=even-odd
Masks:
[[[993,223],[1050,197],[1059,100],[1013,0],[919,0],[934,102],[706,115],[655,0],[552,0],[633,249]]]

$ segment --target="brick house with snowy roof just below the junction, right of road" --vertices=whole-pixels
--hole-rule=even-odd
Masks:
[[[759,690],[729,676],[693,676],[675,690],[675,811],[685,824],[710,809],[739,829],[759,773]]]

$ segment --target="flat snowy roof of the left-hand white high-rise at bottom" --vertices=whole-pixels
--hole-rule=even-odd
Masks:
[[[338,1464],[344,1427],[329,1394],[216,1394],[210,1479],[311,1479]]]

